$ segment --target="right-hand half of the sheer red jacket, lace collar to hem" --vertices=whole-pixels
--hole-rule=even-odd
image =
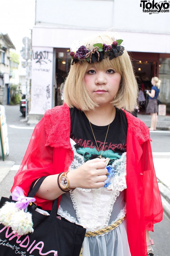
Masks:
[[[128,112],[127,234],[131,255],[145,255],[146,232],[162,220],[163,208],[153,165],[149,129]],[[137,249],[138,248],[138,249]]]

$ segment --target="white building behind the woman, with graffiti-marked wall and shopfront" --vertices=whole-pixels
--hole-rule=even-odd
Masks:
[[[170,6],[165,1],[159,8],[156,1],[149,3],[36,0],[29,122],[37,122],[45,110],[60,104],[59,88],[69,71],[73,41],[109,28],[120,32],[136,75],[146,86],[153,76],[159,76],[161,100],[170,103]]]

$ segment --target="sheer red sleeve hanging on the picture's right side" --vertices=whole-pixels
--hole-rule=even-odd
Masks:
[[[141,146],[143,150],[141,167],[143,171],[145,225],[147,230],[153,231],[154,224],[162,220],[163,208],[150,141],[146,141]]]

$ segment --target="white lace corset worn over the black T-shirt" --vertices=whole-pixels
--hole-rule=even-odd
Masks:
[[[70,171],[84,163],[84,158],[77,154],[74,144],[75,142],[71,139],[74,159],[69,167]],[[126,214],[126,206],[123,194],[121,197],[119,195],[121,191],[126,189],[126,152],[122,154],[120,159],[115,160],[112,166],[115,169],[115,174],[112,183],[108,187],[98,189],[76,188],[74,191],[70,191],[76,216],[73,214],[73,209],[64,211],[64,208],[66,208],[65,200],[69,200],[68,194],[61,197],[58,214],[71,222],[82,225],[87,231],[106,227],[115,222],[117,218],[123,217]],[[120,203],[114,208],[114,203],[118,197]],[[111,222],[109,222],[110,220]]]

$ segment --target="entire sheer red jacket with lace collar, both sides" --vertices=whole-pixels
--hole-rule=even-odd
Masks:
[[[127,132],[127,234],[131,256],[146,252],[145,228],[162,220],[162,202],[153,166],[149,130],[130,113]],[[67,171],[73,160],[70,144],[70,112],[64,104],[46,111],[36,125],[24,159],[14,177],[14,187],[21,186],[27,194],[31,183],[42,176]],[[57,181],[56,181],[57,185]],[[44,210],[52,201],[36,198]]]

